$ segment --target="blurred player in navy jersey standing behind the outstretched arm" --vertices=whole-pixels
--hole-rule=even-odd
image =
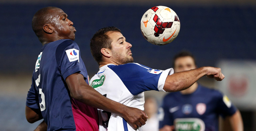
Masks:
[[[173,62],[175,73],[196,68],[195,58],[189,52],[178,53]],[[160,131],[218,131],[219,115],[229,119],[233,130],[243,130],[241,114],[228,97],[197,82],[186,90],[166,95],[162,112]]]

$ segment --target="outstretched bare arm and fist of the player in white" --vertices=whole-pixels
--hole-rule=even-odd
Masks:
[[[225,76],[221,73],[220,68],[216,67],[200,67],[188,71],[182,71],[167,76],[164,84],[166,92],[182,91],[189,88],[199,78],[207,76],[221,81]]]

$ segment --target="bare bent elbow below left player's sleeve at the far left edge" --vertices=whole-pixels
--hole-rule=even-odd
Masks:
[[[29,123],[34,123],[43,118],[40,111],[35,111],[35,109],[31,109],[28,106],[26,106],[25,114]]]

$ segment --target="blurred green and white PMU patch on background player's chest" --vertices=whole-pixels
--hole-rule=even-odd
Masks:
[[[204,131],[205,123],[199,118],[177,118],[174,120],[175,130]]]

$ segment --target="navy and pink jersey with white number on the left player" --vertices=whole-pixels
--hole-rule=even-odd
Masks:
[[[76,42],[62,39],[42,47],[26,105],[41,110],[47,130],[98,130],[97,110],[70,97],[65,80],[74,73],[82,74],[88,84]]]

